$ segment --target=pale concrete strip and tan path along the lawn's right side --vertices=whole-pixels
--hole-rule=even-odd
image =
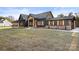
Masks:
[[[63,32],[72,32],[72,41],[71,41],[71,45],[69,48],[69,51],[76,51],[77,50],[77,43],[78,43],[78,39],[77,39],[77,33],[79,33],[79,28],[75,28],[73,30],[57,30],[57,31],[63,31]]]

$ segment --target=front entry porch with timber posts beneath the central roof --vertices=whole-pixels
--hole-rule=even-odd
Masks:
[[[44,19],[38,19],[34,17],[28,18],[28,27],[44,27],[45,26],[45,20]]]

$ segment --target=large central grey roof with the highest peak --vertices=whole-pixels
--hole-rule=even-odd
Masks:
[[[29,16],[32,16],[32,17],[37,18],[37,19],[53,18],[51,11],[43,12],[43,13],[40,13],[40,14],[30,14]]]

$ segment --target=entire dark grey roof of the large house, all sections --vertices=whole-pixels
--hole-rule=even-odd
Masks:
[[[43,19],[43,20],[44,19],[47,19],[47,20],[72,20],[72,19],[74,19],[75,20],[74,16],[64,16],[64,17],[54,18],[51,11],[43,12],[40,14],[29,14],[29,15],[20,14],[19,20],[27,20],[29,16],[32,16],[38,20],[40,20],[40,19]]]

